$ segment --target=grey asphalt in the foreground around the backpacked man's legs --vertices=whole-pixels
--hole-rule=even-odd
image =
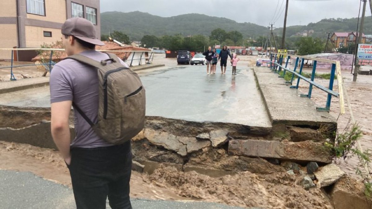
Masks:
[[[0,208],[2,209],[73,209],[72,189],[29,172],[0,170]],[[238,208],[217,203],[131,199],[141,209],[220,209]],[[106,208],[110,208],[107,203]]]

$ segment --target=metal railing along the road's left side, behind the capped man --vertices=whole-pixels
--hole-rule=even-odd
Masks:
[[[48,58],[48,61],[45,61],[43,58],[41,59],[41,64],[25,64],[25,65],[14,65],[14,51],[27,51],[27,50],[37,50],[37,51],[50,51],[50,57]],[[0,51],[11,51],[12,56],[11,56],[11,61],[10,61],[10,66],[4,66],[0,67],[0,69],[4,68],[10,68],[10,80],[15,81],[17,80],[16,77],[13,74],[13,68],[17,67],[26,67],[26,66],[44,66],[46,71],[51,72],[53,66],[56,64],[53,60],[53,53],[54,51],[65,51],[65,49],[51,49],[51,48],[0,48]],[[148,59],[145,59],[145,64],[151,64],[154,60],[154,52],[153,51],[125,51],[125,50],[96,50],[100,52],[125,52],[125,53],[131,53],[129,57],[131,59],[125,60],[126,62],[130,62],[129,67],[132,67],[134,64],[134,61],[138,60],[138,65],[142,65],[142,60],[144,60],[142,57],[143,55],[148,52],[150,55]],[[137,58],[139,57],[139,58]],[[45,73],[46,74],[46,73]],[[44,75],[45,75],[44,74]]]

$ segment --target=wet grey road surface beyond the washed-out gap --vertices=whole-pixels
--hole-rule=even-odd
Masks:
[[[238,67],[237,75],[206,74],[205,65],[178,65],[138,71],[146,89],[146,115],[196,122],[227,122],[270,127],[253,70]],[[1,94],[0,105],[50,107],[49,87]]]

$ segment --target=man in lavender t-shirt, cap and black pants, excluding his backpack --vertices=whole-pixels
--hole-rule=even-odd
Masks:
[[[81,17],[70,18],[62,25],[62,44],[67,55],[80,54],[99,62],[109,59],[107,54],[94,50],[104,43],[96,38],[93,24]],[[130,141],[121,145],[106,142],[76,110],[76,137],[72,142],[70,139],[72,102],[93,123],[98,122],[97,69],[72,59],[62,60],[53,67],[49,83],[52,137],[70,170],[76,207],[106,208],[108,197],[111,208],[131,208]]]

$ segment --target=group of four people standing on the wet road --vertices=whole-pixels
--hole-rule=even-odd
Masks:
[[[219,53],[216,52],[215,48],[212,50],[212,47],[209,46],[208,51],[204,52],[203,55],[205,56],[208,75],[209,75],[209,67],[211,67],[211,74],[216,74],[216,66],[217,66],[218,61],[220,61],[221,74],[225,74],[228,57],[230,57],[231,59],[230,62],[232,66],[232,75],[236,75],[236,65],[237,65],[237,62],[239,61],[239,58],[237,58],[236,54],[232,56],[230,54],[230,51],[227,49],[226,45],[222,47]]]

